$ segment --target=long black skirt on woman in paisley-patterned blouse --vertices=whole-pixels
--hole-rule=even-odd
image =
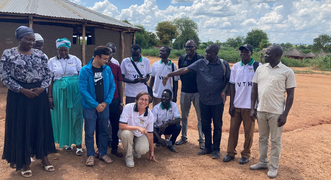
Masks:
[[[19,84],[32,89],[41,82]],[[8,90],[5,122],[5,143],[2,159],[10,167],[21,170],[31,163],[30,155],[42,159],[55,153],[51,112],[46,90],[34,98]]]

